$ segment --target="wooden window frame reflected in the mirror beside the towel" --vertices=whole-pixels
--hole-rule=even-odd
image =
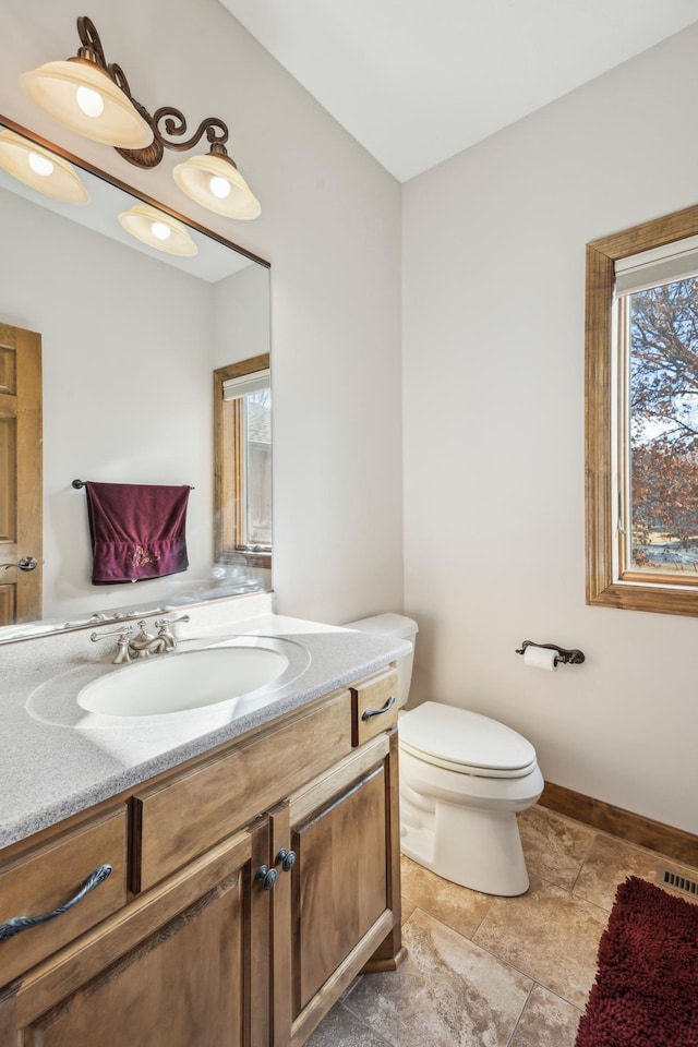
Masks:
[[[242,408],[238,399],[226,400],[224,384],[269,368],[269,353],[228,364],[214,371],[214,556],[231,563],[240,553],[250,567],[272,567],[272,553],[251,550],[240,542],[244,532],[242,492]],[[228,506],[233,505],[233,512]]]

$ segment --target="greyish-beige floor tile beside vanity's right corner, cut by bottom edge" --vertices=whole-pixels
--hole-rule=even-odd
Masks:
[[[506,1047],[531,980],[419,908],[404,941],[397,972],[362,978],[345,1006],[393,1047]]]

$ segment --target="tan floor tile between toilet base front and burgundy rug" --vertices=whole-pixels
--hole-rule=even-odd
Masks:
[[[583,1008],[607,913],[532,877],[528,894],[495,899],[473,941]]]

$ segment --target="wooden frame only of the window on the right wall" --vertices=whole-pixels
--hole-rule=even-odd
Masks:
[[[698,206],[643,222],[587,244],[586,298],[586,533],[587,603],[592,606],[698,615],[698,589],[667,575],[616,576],[617,458],[613,308],[615,263],[698,234]]]

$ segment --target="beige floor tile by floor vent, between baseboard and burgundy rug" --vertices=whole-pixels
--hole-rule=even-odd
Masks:
[[[597,833],[575,884],[575,894],[610,912],[619,883],[628,876],[640,876],[643,880],[654,882],[660,867],[691,876],[690,869],[654,854],[653,851],[635,847],[616,837]]]

